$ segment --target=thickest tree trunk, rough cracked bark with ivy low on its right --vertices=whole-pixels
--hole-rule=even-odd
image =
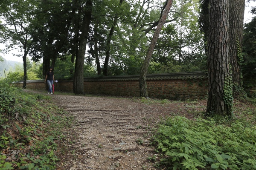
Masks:
[[[228,0],[210,0],[208,37],[208,115],[231,116]]]

